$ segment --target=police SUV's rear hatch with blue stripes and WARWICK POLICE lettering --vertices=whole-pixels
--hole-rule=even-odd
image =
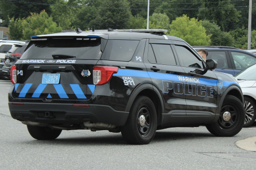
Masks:
[[[16,98],[90,99],[93,67],[106,40],[100,37],[44,37],[32,39],[16,62]]]

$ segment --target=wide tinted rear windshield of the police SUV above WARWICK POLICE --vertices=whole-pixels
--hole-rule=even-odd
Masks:
[[[33,41],[20,59],[53,59],[52,55],[75,56],[75,59],[98,60],[100,38],[51,38]]]

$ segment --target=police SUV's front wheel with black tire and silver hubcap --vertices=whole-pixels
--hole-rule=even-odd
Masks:
[[[230,114],[228,121],[223,114]],[[206,124],[207,130],[216,136],[230,137],[238,134],[243,128],[245,111],[242,102],[233,95],[227,95],[221,106],[220,117],[214,124]]]

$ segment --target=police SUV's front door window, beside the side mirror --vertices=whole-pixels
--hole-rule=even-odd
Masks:
[[[191,53],[186,47],[175,45],[175,51],[182,60],[182,66],[203,68],[202,61],[200,61],[193,53]]]

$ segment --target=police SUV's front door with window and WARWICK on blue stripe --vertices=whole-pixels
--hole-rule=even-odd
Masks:
[[[176,54],[185,76],[179,77],[184,82],[186,95],[186,123],[210,123],[217,110],[217,76],[204,69],[202,58],[184,42],[174,42]]]

